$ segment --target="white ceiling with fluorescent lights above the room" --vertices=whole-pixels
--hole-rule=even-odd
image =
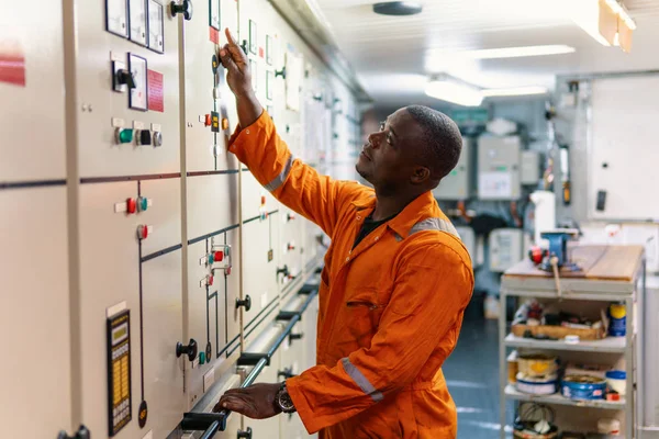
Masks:
[[[438,103],[424,94],[428,75],[438,72],[488,88],[552,88],[556,75],[659,69],[659,0],[625,1],[638,26],[630,54],[577,26],[572,1],[583,0],[422,0],[418,15],[383,16],[372,12],[375,0],[308,0],[378,106]],[[576,52],[487,60],[457,54],[556,44]]]

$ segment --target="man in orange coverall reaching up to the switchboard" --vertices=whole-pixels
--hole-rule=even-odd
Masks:
[[[298,412],[322,439],[455,438],[442,364],[471,299],[465,246],[431,190],[462,145],[446,115],[407,106],[369,136],[357,171],[373,187],[335,181],[295,159],[252,90],[249,64],[226,31],[220,50],[239,128],[228,150],[281,203],[331,237],[319,292],[317,365],[283,383],[226,392],[250,418]]]

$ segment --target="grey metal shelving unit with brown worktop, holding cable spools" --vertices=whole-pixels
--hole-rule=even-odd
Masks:
[[[554,279],[549,273],[541,272],[529,261],[522,261],[507,270],[501,282],[501,309],[505,309],[509,296],[535,297],[539,301],[584,301],[588,302],[621,302],[625,303],[627,330],[625,337],[607,337],[602,340],[583,340],[568,344],[563,340],[535,340],[516,337],[509,333],[505,312],[499,318],[499,358],[500,358],[500,435],[506,437],[506,401],[536,402],[547,405],[587,407],[602,409],[603,416],[607,410],[624,412],[624,437],[637,438],[635,428],[636,410],[636,336],[640,330],[636,324],[635,313],[643,306],[645,295],[645,254],[643,247],[630,249],[632,246],[582,246],[596,247],[592,252],[592,263],[583,263],[581,277],[560,279],[561,292],[556,290]],[[595,250],[599,250],[595,251]],[[588,256],[588,255],[587,255]],[[630,260],[633,258],[634,260]],[[616,262],[617,260],[617,262]],[[603,274],[606,273],[606,274]],[[600,306],[602,304],[600,303]],[[559,393],[552,395],[530,395],[518,392],[509,383],[507,353],[510,348],[533,351],[552,352],[584,352],[587,358],[593,354],[618,354],[625,362],[627,372],[626,395],[617,402],[611,401],[573,401]],[[559,353],[560,356],[560,353]],[[610,413],[610,412],[608,412]],[[580,416],[579,409],[573,410],[574,417]]]

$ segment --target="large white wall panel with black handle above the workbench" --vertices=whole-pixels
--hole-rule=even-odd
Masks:
[[[589,213],[593,219],[659,218],[656,164],[659,76],[597,79],[592,89]],[[630,176],[633,172],[633,178]],[[597,192],[606,193],[603,210]]]

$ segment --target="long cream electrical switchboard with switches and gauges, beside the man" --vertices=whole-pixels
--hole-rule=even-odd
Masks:
[[[343,179],[355,178],[354,91],[266,0],[38,3],[0,19],[0,56],[10,47],[18,66],[11,77],[0,66],[0,91],[18,106],[0,110],[0,270],[12,291],[3,320],[47,339],[52,365],[5,362],[21,384],[0,397],[0,419],[36,416],[35,437],[181,438],[185,414],[208,412],[253,371],[243,353],[268,349],[282,312],[304,304],[305,317],[257,381],[315,362],[317,301],[300,291],[323,235],[227,150],[238,117],[217,59],[224,29],[291,151]],[[40,32],[10,32],[30,23]],[[40,130],[16,116],[26,113]],[[53,257],[37,278],[34,249]],[[16,357],[31,346],[19,342]],[[58,404],[35,413],[35,394]],[[304,434],[295,417],[232,415],[215,437],[235,438],[241,424],[255,437]]]

